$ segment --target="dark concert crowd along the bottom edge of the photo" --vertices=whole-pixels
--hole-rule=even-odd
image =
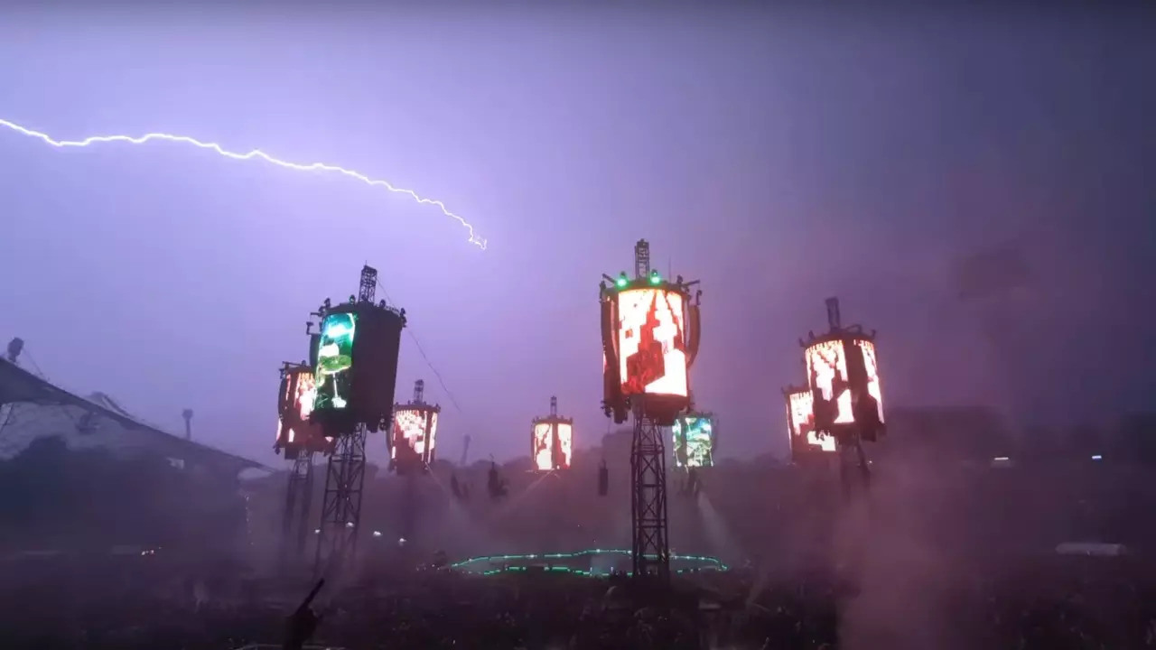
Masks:
[[[1079,564],[1079,562],[1077,562]],[[75,569],[75,568],[74,568]],[[1075,569],[1075,570],[1073,570]],[[1156,645],[1151,582],[1121,567],[1051,567],[1050,575],[977,581],[935,593],[944,612],[928,621],[847,620],[851,585],[810,576],[751,592],[753,574],[703,576],[713,597],[639,607],[616,581],[575,576],[473,577],[420,571],[361,585],[314,605],[310,643],[343,648],[936,648],[1099,649]],[[119,579],[75,573],[20,592],[6,590],[3,648],[224,649],[284,638],[301,593],[253,585],[157,589],[149,571]],[[1129,575],[1131,574],[1131,575]],[[128,578],[127,576],[132,576]],[[57,576],[60,577],[60,576]],[[140,581],[139,584],[133,584]],[[67,583],[67,588],[64,586]],[[932,636],[920,636],[920,635]],[[925,645],[926,647],[926,645]]]

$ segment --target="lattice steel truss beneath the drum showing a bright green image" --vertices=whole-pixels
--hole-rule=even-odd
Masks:
[[[318,575],[340,571],[357,551],[362,487],[365,483],[366,433],[365,426],[358,424],[354,433],[339,436],[338,446],[329,456],[313,563]]]

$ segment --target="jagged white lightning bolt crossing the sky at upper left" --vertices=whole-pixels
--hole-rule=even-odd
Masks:
[[[414,201],[416,201],[418,204],[430,205],[430,206],[437,207],[439,210],[442,210],[442,214],[444,214],[444,215],[449,216],[450,219],[457,221],[462,227],[465,227],[466,230],[469,231],[469,243],[470,244],[474,244],[475,246],[482,249],[483,251],[486,250],[486,239],[483,237],[479,237],[477,234],[474,232],[473,224],[470,224],[468,221],[466,221],[461,216],[459,216],[459,215],[454,214],[453,212],[451,212],[450,208],[445,207],[445,204],[443,204],[442,201],[439,201],[437,199],[427,199],[425,197],[420,195],[417,192],[414,192],[413,190],[407,190],[405,187],[398,187],[398,186],[393,185],[392,183],[390,183],[388,180],[383,180],[383,179],[379,179],[379,178],[370,178],[369,176],[365,176],[364,173],[361,173],[360,171],[355,171],[355,170],[351,170],[351,169],[346,169],[343,167],[338,167],[335,164],[326,164],[326,163],[301,164],[301,163],[289,162],[289,161],[283,161],[281,158],[271,156],[269,154],[266,154],[265,152],[262,152],[260,149],[253,149],[253,150],[251,150],[249,153],[239,154],[237,152],[230,152],[229,149],[225,149],[224,147],[222,147],[221,145],[217,145],[216,142],[202,142],[202,141],[200,141],[200,140],[198,140],[195,138],[190,138],[187,135],[173,135],[171,133],[146,133],[144,135],[139,135],[139,136],[132,136],[132,135],[94,135],[94,136],[90,136],[90,138],[86,138],[83,140],[55,140],[52,136],[50,136],[49,134],[46,134],[46,133],[40,133],[39,131],[32,131],[31,128],[27,128],[24,126],[21,126],[18,124],[14,123],[14,121],[8,121],[8,120],[2,119],[2,118],[0,118],[0,126],[7,127],[7,128],[9,128],[12,131],[15,131],[16,133],[22,134],[22,135],[28,135],[29,138],[35,138],[37,140],[40,140],[40,141],[45,142],[46,145],[51,145],[53,147],[60,148],[60,149],[62,149],[65,147],[88,147],[90,145],[98,145],[98,143],[103,143],[103,142],[127,142],[129,145],[143,145],[146,142],[151,141],[151,140],[160,140],[160,141],[164,141],[164,142],[179,142],[181,145],[192,145],[192,146],[194,146],[197,148],[200,148],[200,149],[209,149],[212,152],[216,152],[218,155],[222,155],[222,156],[224,156],[227,158],[232,158],[232,160],[236,160],[236,161],[250,161],[250,160],[254,160],[254,158],[260,158],[260,160],[262,160],[262,161],[265,161],[267,163],[275,164],[277,167],[283,167],[286,169],[292,169],[292,170],[296,170],[296,171],[327,171],[327,172],[331,172],[331,173],[340,173],[342,176],[348,176],[349,178],[355,178],[357,180],[361,180],[362,183],[364,183],[366,185],[371,185],[371,186],[376,186],[376,187],[385,187],[390,192],[394,192],[394,193],[398,193],[398,194],[408,194],[409,198],[412,198]]]

